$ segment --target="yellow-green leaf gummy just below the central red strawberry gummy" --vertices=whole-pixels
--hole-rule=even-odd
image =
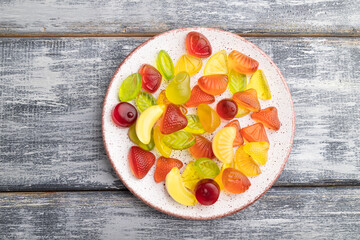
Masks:
[[[195,144],[195,137],[188,132],[185,132],[183,130],[164,135],[163,143],[165,143],[166,146],[169,148],[175,149],[175,150],[183,150],[191,147]]]

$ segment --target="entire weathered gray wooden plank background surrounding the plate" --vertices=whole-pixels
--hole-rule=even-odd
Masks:
[[[359,239],[360,1],[0,1],[0,239]],[[274,187],[189,221],[122,185],[101,138],[117,66],[166,30],[238,33],[278,65],[296,133]]]

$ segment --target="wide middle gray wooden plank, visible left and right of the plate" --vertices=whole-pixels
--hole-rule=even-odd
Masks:
[[[117,65],[146,38],[1,39],[0,191],[123,189],[101,138]],[[278,64],[296,133],[277,186],[360,185],[355,38],[249,38]]]

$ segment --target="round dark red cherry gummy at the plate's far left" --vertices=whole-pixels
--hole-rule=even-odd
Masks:
[[[127,102],[118,103],[111,112],[111,119],[119,127],[130,127],[137,119],[136,108]]]

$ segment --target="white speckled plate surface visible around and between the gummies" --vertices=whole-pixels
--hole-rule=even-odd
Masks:
[[[127,159],[129,148],[133,146],[133,143],[130,142],[127,136],[128,129],[116,127],[111,121],[111,110],[119,102],[118,91],[122,81],[128,75],[137,72],[144,63],[156,66],[155,58],[162,49],[169,53],[175,64],[180,56],[186,53],[185,37],[190,31],[198,31],[204,34],[212,45],[213,54],[220,50],[226,50],[227,53],[230,53],[232,50],[238,50],[256,59],[260,63],[259,68],[264,71],[267,77],[273,96],[269,101],[260,100],[261,107],[277,107],[279,119],[282,123],[280,130],[277,132],[266,130],[270,140],[269,160],[265,166],[261,166],[262,173],[259,176],[249,178],[251,182],[249,190],[239,195],[228,194],[222,191],[219,200],[212,206],[202,206],[200,204],[183,206],[175,202],[167,193],[164,183],[155,183],[155,165],[143,179],[135,178],[131,173]],[[200,72],[191,77],[191,87],[203,75],[203,69],[207,60],[203,60],[203,67]],[[163,83],[154,96],[157,98],[160,91],[165,89],[165,87],[166,85]],[[216,102],[211,104],[211,106],[215,108],[216,103],[225,97],[231,97],[228,90],[222,95],[217,96]],[[135,105],[134,101],[131,103]],[[192,108],[189,112],[193,113],[195,109]],[[223,121],[217,130],[221,129],[227,122]],[[249,115],[239,118],[239,122],[241,127],[254,123]],[[254,44],[238,35],[211,28],[175,29],[159,34],[137,47],[116,70],[105,95],[102,114],[102,132],[105,149],[117,175],[126,187],[151,207],[164,213],[187,219],[213,219],[227,216],[244,209],[260,198],[274,184],[285,167],[293,143],[294,129],[294,108],[288,86],[269,56]],[[212,139],[215,133],[205,134],[204,136]],[[155,149],[152,152],[156,157],[160,156]],[[183,161],[184,167],[180,169],[180,172],[184,170],[185,165],[189,161],[193,160],[187,150],[173,151],[172,157]]]

